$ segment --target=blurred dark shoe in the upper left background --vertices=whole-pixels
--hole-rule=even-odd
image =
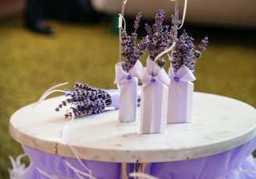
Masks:
[[[55,33],[50,26],[47,26],[44,22],[37,23],[26,23],[27,29],[32,30],[36,33],[42,33],[45,35],[52,35]]]

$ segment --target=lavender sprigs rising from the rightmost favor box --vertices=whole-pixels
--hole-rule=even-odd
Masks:
[[[182,65],[187,66],[191,72],[194,72],[194,66],[197,58],[201,58],[202,51],[206,49],[208,44],[208,37],[204,37],[199,44],[199,51],[194,48],[194,39],[190,37],[186,30],[180,35],[180,38],[176,41],[175,50],[172,53],[172,67],[176,72]]]

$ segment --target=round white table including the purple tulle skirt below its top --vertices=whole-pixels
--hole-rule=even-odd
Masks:
[[[133,169],[137,163],[150,163],[144,171],[159,178],[227,178],[231,170],[240,167],[247,156],[256,149],[256,110],[232,98],[194,93],[191,123],[169,124],[165,133],[150,135],[137,134],[138,122],[119,123],[118,111],[105,111],[69,122],[69,118],[64,118],[65,110],[55,111],[55,107],[64,98],[54,97],[35,107],[34,104],[22,107],[12,114],[10,119],[9,132],[13,139],[23,145],[31,163],[34,164],[34,169],[39,170],[37,175],[41,177],[37,178],[53,173],[42,166],[40,161],[36,161],[37,155],[40,154],[45,155],[44,159],[48,156],[62,157],[63,160],[64,157],[77,162],[78,158],[87,163],[87,166],[90,166],[89,162],[108,163],[115,165],[115,170],[121,170],[121,163],[133,163]],[[139,118],[140,113],[137,115]],[[66,130],[62,133],[65,126]],[[34,156],[30,155],[31,153],[34,153]],[[236,162],[232,158],[234,153]],[[222,155],[229,157],[223,158]],[[209,167],[214,165],[213,160],[217,160],[217,163],[224,162],[217,166],[222,168],[215,170],[212,175],[209,175],[208,170],[203,172],[202,168],[207,168],[207,163]],[[198,166],[201,162],[204,162],[203,166]],[[35,163],[44,169],[39,169]],[[183,174],[186,173],[186,168],[194,166],[194,163],[197,163],[194,173],[187,170],[187,174]],[[51,164],[48,163],[48,166]],[[77,168],[79,164],[73,165]],[[169,167],[165,169],[166,165]],[[178,169],[172,165],[180,166],[183,172],[178,174]],[[176,171],[172,171],[170,166]],[[113,170],[115,167],[111,168]],[[132,171],[132,168],[126,169],[126,172]],[[162,172],[158,168],[162,168]],[[102,169],[107,170],[105,167]],[[101,170],[99,165],[98,169],[96,167],[92,170],[97,178],[121,176],[116,174],[115,177],[107,177],[101,174],[106,177],[99,177],[95,170]],[[201,174],[198,174],[199,170]],[[64,175],[67,178],[71,175],[76,177],[76,174]]]

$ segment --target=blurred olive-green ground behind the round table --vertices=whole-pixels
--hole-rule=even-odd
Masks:
[[[8,156],[23,153],[9,135],[9,118],[59,82],[115,88],[118,37],[109,23],[75,25],[50,21],[53,37],[23,29],[22,19],[0,21],[0,178],[8,178]],[[195,90],[242,100],[256,107],[255,31],[195,28],[187,33],[210,44],[197,61]],[[246,114],[245,114],[246,115]]]

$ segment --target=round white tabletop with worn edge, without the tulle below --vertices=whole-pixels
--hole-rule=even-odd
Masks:
[[[256,136],[256,110],[228,97],[194,93],[191,123],[170,124],[164,134],[137,135],[138,122],[119,123],[118,111],[76,118],[55,111],[64,97],[30,104],[16,111],[9,122],[13,139],[24,146],[59,156],[108,162],[165,162],[222,153]],[[140,108],[138,108],[140,112]],[[138,113],[138,117],[140,114]],[[256,147],[255,147],[256,148]]]

